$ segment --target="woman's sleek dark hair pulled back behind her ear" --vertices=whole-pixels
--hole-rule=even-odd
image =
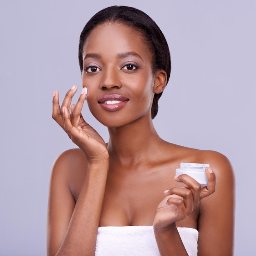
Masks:
[[[152,52],[152,71],[164,70],[167,73],[168,83],[171,73],[171,56],[166,39],[154,20],[152,20],[146,13],[138,9],[126,6],[112,6],[107,7],[96,13],[85,25],[80,35],[79,41],[79,65],[80,70],[83,70],[83,47],[85,40],[90,35],[90,32],[106,22],[121,22],[132,27],[142,33],[146,43]],[[151,108],[151,117],[155,118],[158,112],[158,100],[162,92],[154,95],[153,104]]]

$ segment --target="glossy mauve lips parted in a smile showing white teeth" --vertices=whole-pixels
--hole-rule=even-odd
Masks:
[[[116,111],[123,108],[128,101],[129,99],[127,97],[119,94],[106,94],[98,100],[98,103],[105,110]]]

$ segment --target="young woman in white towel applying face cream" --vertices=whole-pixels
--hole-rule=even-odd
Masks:
[[[220,153],[162,140],[152,119],[171,61],[155,22],[131,7],[103,9],[79,43],[82,92],[74,85],[53,118],[79,148],[54,162],[48,255],[231,255],[234,177]],[[108,127],[106,144],[81,115],[87,101]],[[207,127],[206,127],[207,128]],[[207,163],[207,186],[175,176],[181,162]]]

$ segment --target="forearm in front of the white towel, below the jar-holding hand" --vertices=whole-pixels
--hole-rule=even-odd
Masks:
[[[161,256],[188,256],[175,223],[165,230],[154,227],[154,232]]]

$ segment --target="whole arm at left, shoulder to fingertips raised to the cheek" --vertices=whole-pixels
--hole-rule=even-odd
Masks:
[[[82,151],[68,151],[54,163],[49,193],[47,222],[48,255],[94,255],[97,229],[108,174],[108,151],[99,134],[81,115],[86,97],[82,94],[76,105],[71,99],[77,88],[72,87],[61,108],[58,92],[53,99],[53,118]],[[83,152],[83,153],[82,153]],[[76,152],[77,153],[77,152]],[[77,202],[71,193],[72,179],[81,178]]]

